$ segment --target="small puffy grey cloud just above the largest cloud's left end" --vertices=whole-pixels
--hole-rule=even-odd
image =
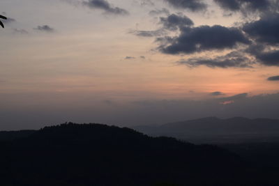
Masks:
[[[185,15],[172,14],[167,17],[160,17],[160,24],[163,24],[164,29],[176,31],[183,26],[193,26],[194,22]]]

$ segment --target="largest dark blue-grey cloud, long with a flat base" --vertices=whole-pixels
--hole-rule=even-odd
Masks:
[[[180,35],[169,41],[158,49],[165,54],[192,54],[212,49],[232,49],[239,43],[250,44],[239,29],[220,25],[183,27]]]

